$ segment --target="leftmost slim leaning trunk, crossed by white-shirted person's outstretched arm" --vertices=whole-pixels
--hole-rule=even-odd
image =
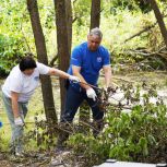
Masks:
[[[29,12],[32,28],[35,38],[37,59],[39,62],[48,64],[46,43],[39,20],[37,0],[27,0],[27,9]],[[47,121],[52,121],[53,123],[56,123],[57,115],[55,109],[50,76],[41,76],[41,91]]]

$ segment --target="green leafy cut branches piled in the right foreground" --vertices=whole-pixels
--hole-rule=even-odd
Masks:
[[[150,163],[167,158],[167,107],[157,97],[156,86],[145,91],[142,105],[139,104],[140,87],[123,86],[122,90],[130,103],[138,103],[131,111],[121,105],[111,105],[106,114],[105,129],[97,139],[79,133],[69,141],[76,154],[84,155],[87,166],[107,158]],[[153,97],[157,98],[156,104],[151,103]]]

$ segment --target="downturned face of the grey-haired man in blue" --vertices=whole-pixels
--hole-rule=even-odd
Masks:
[[[102,39],[97,36],[97,35],[88,35],[87,36],[87,45],[88,45],[88,49],[92,51],[97,50],[97,48],[100,45]]]

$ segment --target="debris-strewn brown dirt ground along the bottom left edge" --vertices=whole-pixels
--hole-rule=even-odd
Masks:
[[[28,153],[25,157],[15,157],[9,153],[0,153],[0,167],[85,167],[81,156],[72,152]]]

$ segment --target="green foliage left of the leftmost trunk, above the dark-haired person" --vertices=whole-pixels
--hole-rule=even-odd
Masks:
[[[26,51],[22,34],[24,1],[2,1],[0,8],[0,74],[3,75],[15,65]]]

